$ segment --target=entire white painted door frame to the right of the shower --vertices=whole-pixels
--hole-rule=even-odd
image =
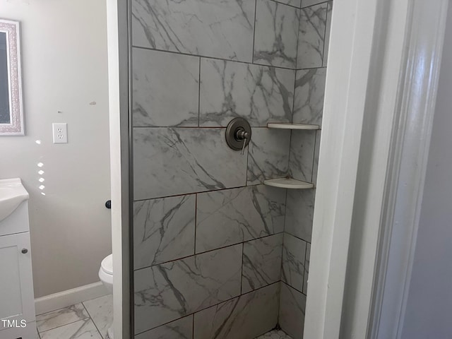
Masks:
[[[400,338],[447,4],[334,3],[304,338]]]

